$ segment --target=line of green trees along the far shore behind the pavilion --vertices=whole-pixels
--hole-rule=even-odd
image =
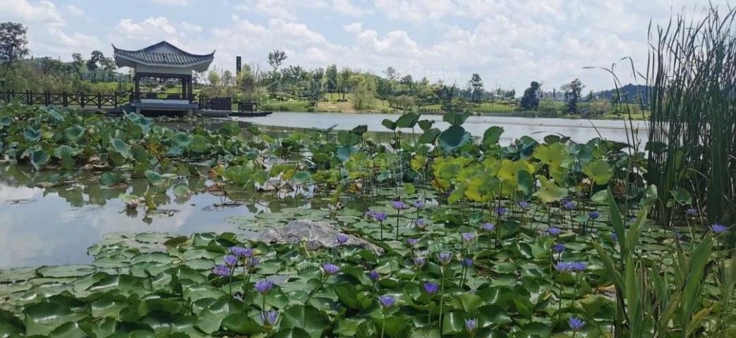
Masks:
[[[74,53],[71,62],[51,57],[27,59],[27,43],[26,28],[22,24],[0,24],[0,79],[4,79],[6,89],[108,93],[130,89],[131,74],[119,73],[113,58],[102,51],[93,51],[86,59]],[[288,58],[285,51],[275,50],[267,56],[269,68],[261,68],[258,63],[245,64],[236,74],[213,68],[207,73],[195,73],[194,81],[198,90],[208,96],[228,96],[251,102],[308,101],[312,107],[319,101],[329,100],[350,101],[358,110],[375,108],[379,102],[397,110],[508,107],[567,114],[598,114],[610,110],[609,99],[593,96],[592,92],[587,97],[581,96],[584,85],[579,79],[560,87],[562,98],[553,93],[551,99],[545,99],[542,83],[535,81],[517,99],[513,89],[486,90],[478,73],[473,73],[464,84],[448,84],[442,80],[430,82],[426,77],[414,79],[411,74],[401,74],[393,67],[378,75],[338,68],[335,64],[313,69],[283,66]],[[177,82],[161,80],[148,84],[152,90],[166,90]],[[588,104],[581,108],[581,102]]]

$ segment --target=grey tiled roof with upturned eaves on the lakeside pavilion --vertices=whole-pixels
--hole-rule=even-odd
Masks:
[[[139,49],[138,51],[118,49],[115,45],[113,45],[113,49],[118,66],[121,66],[121,63],[125,63],[118,60],[118,58],[122,57],[132,62],[138,62],[144,65],[183,67],[197,65],[204,62],[212,62],[215,54],[214,51],[210,54],[191,54],[166,41],[161,41],[160,43]]]

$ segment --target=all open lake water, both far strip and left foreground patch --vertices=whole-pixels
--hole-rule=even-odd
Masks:
[[[398,115],[276,112],[264,118],[238,120],[275,126],[272,130],[278,130],[278,126],[283,126],[284,129],[324,129],[335,124],[336,129],[352,129],[365,124],[369,131],[386,132],[387,129],[381,125],[384,118],[395,121]],[[441,121],[442,117],[428,115],[423,118]],[[182,127],[189,125],[166,124]],[[439,122],[435,126],[444,129],[448,125]],[[585,142],[598,137],[598,133],[609,140],[626,142],[623,121],[470,117],[464,123],[464,128],[475,136],[482,136],[489,126],[503,126],[504,144],[523,135],[541,140],[547,134],[563,134],[574,141]],[[635,122],[634,126],[641,129],[645,123]],[[418,127],[416,132],[420,132]],[[383,133],[375,135],[385,136]],[[644,140],[645,137],[645,130],[640,131],[639,138]],[[286,206],[284,202],[263,201],[260,204],[216,207],[215,204],[224,202],[216,195],[197,193],[190,198],[180,199],[175,198],[169,190],[161,197],[165,202],[160,207],[172,212],[145,217],[142,210],[136,214],[125,211],[118,195],[126,190],[101,188],[94,183],[94,177],[82,178],[77,183],[63,187],[38,187],[51,174],[52,172],[34,173],[29,168],[16,165],[0,166],[0,269],[88,263],[92,259],[87,255],[87,248],[104,234],[116,231],[162,231],[184,235],[202,231],[238,232],[235,225],[227,223],[227,217],[254,215]],[[198,180],[188,182],[191,190],[202,190],[203,179]],[[134,180],[130,190],[145,189],[144,186],[147,187],[147,181]]]

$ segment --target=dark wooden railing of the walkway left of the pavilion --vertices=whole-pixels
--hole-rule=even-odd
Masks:
[[[112,94],[86,94],[86,93],[33,93],[31,91],[0,92],[0,102],[10,103],[18,102],[21,104],[44,106],[60,106],[60,107],[81,107],[81,108],[116,108],[130,104],[132,93],[130,91]]]

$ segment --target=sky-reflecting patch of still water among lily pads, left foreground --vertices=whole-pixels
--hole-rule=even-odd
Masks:
[[[120,193],[145,192],[148,182],[134,179],[127,189],[107,189],[91,175],[74,178],[58,187],[38,187],[54,179],[52,172],[28,168],[0,168],[0,268],[81,264],[91,262],[87,248],[103,234],[115,231],[163,231],[191,234],[198,231],[237,231],[226,217],[268,212],[269,204],[215,207],[222,197],[195,193],[177,198],[170,189],[156,194],[164,211],[146,215],[142,208],[128,213]],[[191,190],[202,191],[199,177],[183,179]],[[141,194],[142,195],[142,194]]]

